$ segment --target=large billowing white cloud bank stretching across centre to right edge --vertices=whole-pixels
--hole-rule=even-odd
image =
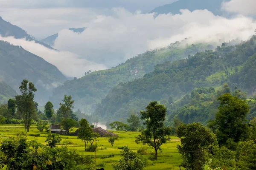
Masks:
[[[232,19],[207,10],[181,10],[181,14],[131,13],[114,8],[111,16],[99,15],[81,34],[62,30],[54,48],[112,67],[147,50],[190,38],[190,43],[215,42],[253,35],[256,23],[249,17]]]

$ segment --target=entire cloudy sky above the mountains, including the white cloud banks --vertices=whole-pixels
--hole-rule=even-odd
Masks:
[[[181,14],[148,14],[154,7],[172,0],[0,0],[0,15],[37,39],[58,32],[52,51],[44,46],[0,37],[54,64],[69,77],[111,68],[154,48],[189,38],[189,43],[221,44],[233,39],[247,40],[254,34],[254,0],[230,0],[221,9],[225,18],[207,10]],[[100,2],[100,3],[95,3]],[[100,4],[100,5],[99,5]],[[81,33],[67,28],[87,27]]]

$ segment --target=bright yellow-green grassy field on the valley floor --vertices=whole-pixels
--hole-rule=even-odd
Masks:
[[[76,129],[73,129],[76,130]],[[46,144],[45,139],[47,137],[47,132],[39,132],[36,129],[36,126],[32,126],[29,133],[25,133],[24,127],[22,125],[0,125],[0,140],[6,139],[9,136],[16,136],[19,133],[24,133],[29,140],[36,140],[42,144]],[[29,136],[30,134],[40,134],[39,137]],[[113,147],[108,140],[104,137],[98,138],[97,145],[98,148],[96,150],[96,164],[98,168],[104,167],[105,170],[112,170],[111,164],[118,161],[120,159],[120,151],[118,147],[122,147],[127,145],[131,150],[137,152],[139,147],[142,147],[141,144],[136,144],[135,136],[139,135],[139,132],[123,132],[123,131],[114,131],[114,133],[119,135],[119,140],[115,142]],[[71,150],[76,150],[81,155],[87,156],[92,155],[95,156],[95,152],[85,152],[84,144],[80,139],[77,139],[76,136],[61,136],[62,141],[58,147],[64,146],[68,142],[72,142],[73,144],[67,144],[67,147]],[[172,140],[167,144],[163,144],[162,152],[158,153],[158,160],[155,161],[154,158],[154,150],[148,147],[148,153],[145,155],[148,157],[150,165],[145,167],[145,170],[179,170],[179,165],[181,163],[181,156],[177,153],[177,144],[180,144],[179,139],[175,136],[171,136]],[[103,156],[109,156],[110,154],[114,154],[115,156],[112,158],[102,159]]]

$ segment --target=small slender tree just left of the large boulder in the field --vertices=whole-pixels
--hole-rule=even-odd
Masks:
[[[91,140],[93,130],[86,119],[81,119],[79,121],[79,125],[80,125],[80,128],[78,130],[77,138],[81,139],[84,142],[84,146],[86,150],[86,145]]]

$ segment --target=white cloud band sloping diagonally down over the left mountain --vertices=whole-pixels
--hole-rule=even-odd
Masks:
[[[37,44],[34,41],[15,39],[14,37],[0,37],[0,40],[10,42],[13,45],[20,45],[27,51],[42,57],[47,62],[55,65],[63,74],[68,77],[82,77],[85,71],[102,70],[106,67],[102,64],[87,61],[79,58],[78,55],[69,51],[55,51]],[[47,85],[46,85],[47,86]],[[56,86],[52,84],[50,86]]]

